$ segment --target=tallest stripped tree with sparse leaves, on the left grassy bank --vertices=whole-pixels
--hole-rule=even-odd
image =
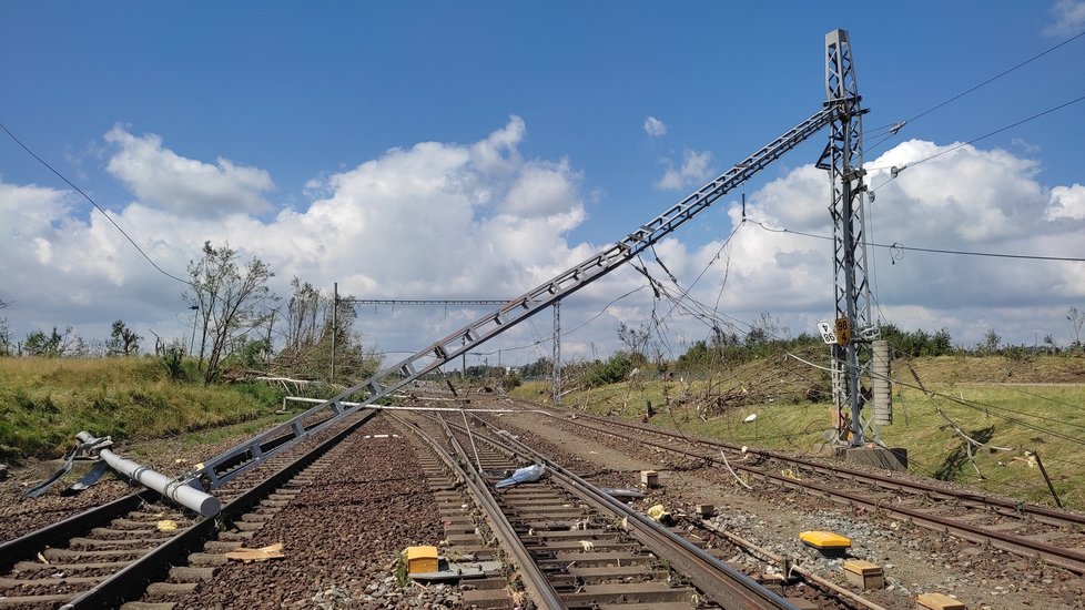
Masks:
[[[230,244],[214,247],[203,244],[203,257],[189,263],[191,289],[185,301],[197,307],[201,325],[200,367],[204,384],[220,374],[227,348],[243,345],[250,334],[258,332],[272,315],[274,299],[267,281],[274,277],[267,265],[253,257],[239,265],[237,251]],[[206,358],[206,366],[204,366]]]

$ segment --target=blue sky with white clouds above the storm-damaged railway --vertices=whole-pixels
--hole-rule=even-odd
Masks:
[[[1085,30],[1085,4],[1076,0],[912,2],[844,16],[815,3],[749,4],[4,1],[0,121],[115,213],[133,237],[160,244],[162,264],[175,273],[197,255],[193,244],[229,238],[271,261],[280,276],[297,274],[326,288],[338,281],[358,296],[508,297],[621,237],[815,112],[824,99],[824,34],[834,28],[851,33],[860,91],[872,110],[868,133]],[[1085,94],[1083,60],[1085,39],[1077,39],[906,125],[866,161],[892,152],[884,163],[903,164],[1076,99]],[[666,132],[649,133],[649,118]],[[1085,103],[1078,103],[964,149],[971,156],[940,157],[935,169],[943,173],[910,179],[922,182],[912,189],[905,172],[901,192],[893,185],[879,193],[885,212],[872,212],[874,236],[914,246],[1085,256],[1076,245],[1079,231],[1074,241],[1085,216],[1077,207],[1085,195],[1074,187],[1085,183],[1083,140]],[[504,151],[507,166],[463,161],[485,142]],[[799,186],[809,182],[802,169],[823,145],[813,139],[747,184],[751,211],[778,225],[809,221],[807,228],[828,231],[828,217],[797,212],[828,205]],[[446,182],[455,175],[478,183],[471,182],[467,200],[445,201],[407,187],[419,167]],[[1012,184],[998,186],[1008,173]],[[212,180],[200,177],[207,175]],[[394,196],[366,207],[375,196],[366,191],[373,176]],[[945,200],[945,181],[961,192]],[[146,264],[125,252],[131,247],[120,235],[93,222],[89,204],[7,139],[0,142],[0,187],[8,199],[0,202],[0,221],[9,233],[0,282],[12,291],[0,298],[13,302],[3,314],[17,338],[67,324],[100,336],[116,317],[160,335],[182,334],[183,319],[171,308],[183,287],[141,268]],[[992,190],[1024,199],[987,196]],[[792,199],[772,197],[780,192]],[[510,194],[521,203],[500,203]],[[668,265],[688,266],[691,282],[731,231],[738,196],[676,235]],[[934,205],[940,197],[944,205]],[[323,217],[321,201],[338,202],[328,204],[337,210],[356,205],[358,213],[339,214],[327,221],[335,225],[329,228],[314,221]],[[283,209],[297,216],[285,218]],[[413,233],[404,224],[430,212],[448,233],[433,226],[433,233],[417,233],[414,247],[405,244]],[[1007,228],[1042,217],[1048,221],[1042,227]],[[886,224],[879,225],[882,218]],[[294,230],[287,220],[298,223]],[[970,233],[970,225],[978,228]],[[305,233],[296,226],[311,227],[306,243],[327,252],[298,258],[276,250],[275,240]],[[516,240],[503,242],[499,232]],[[382,245],[392,235],[397,241]],[[736,286],[731,315],[752,321],[759,312],[779,312],[798,333],[831,313],[831,292],[818,301],[771,289],[831,282],[821,245],[744,238],[749,243],[731,256],[748,265],[750,284]],[[419,251],[445,266],[427,265]],[[794,272],[802,279],[775,275],[780,265],[738,260],[779,262],[781,252],[804,262]],[[458,271],[480,256],[491,264]],[[977,340],[984,325],[1017,343],[1032,343],[1036,333],[1065,342],[1065,309],[1085,306],[1081,263],[1047,265],[1037,274],[1035,264],[986,270],[976,261],[878,256],[893,271],[878,278],[886,317],[907,327],[945,325],[961,342]],[[103,263],[81,268],[74,257]],[[983,277],[977,289],[1005,275],[997,289],[1006,296],[964,295],[967,283],[955,273]],[[707,295],[719,291],[711,275]],[[1037,277],[1057,289],[1044,293],[1037,285],[1044,294],[1023,298],[1021,287]],[[927,289],[932,279],[945,289]],[[638,279],[609,282],[576,297],[568,315],[588,319]],[[993,302],[1005,303],[987,307]],[[570,347],[608,352],[614,326],[643,321],[650,308],[648,298],[609,312],[582,336],[569,337]],[[977,312],[984,313],[977,318]],[[438,336],[396,331],[404,321],[388,314],[374,317],[381,319],[363,331],[387,349],[415,349]],[[426,319],[434,333],[456,323],[446,313]],[[671,333],[681,344],[703,328],[676,318]],[[529,335],[509,340],[523,344]]]

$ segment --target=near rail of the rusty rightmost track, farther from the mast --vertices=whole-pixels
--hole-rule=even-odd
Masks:
[[[585,416],[581,416],[581,417],[585,417]],[[633,425],[617,424],[617,423],[610,423],[610,424],[626,426],[626,427],[631,427],[631,428],[636,428],[636,429],[640,429],[640,430],[645,430],[645,431],[651,431],[651,433],[656,433],[656,434],[669,435],[669,433],[660,433],[657,429],[653,429],[653,428],[645,428],[642,426],[633,426]],[[578,424],[578,425],[585,426],[584,424]],[[687,456],[687,457],[692,457],[692,458],[697,458],[697,459],[704,459],[704,460],[708,460],[708,461],[710,461],[712,464],[722,464],[718,458],[716,458],[716,457],[713,457],[711,455],[703,455],[703,454],[687,451],[687,450],[677,448],[677,447],[675,447],[672,445],[665,445],[665,444],[660,444],[660,443],[653,443],[653,441],[650,441],[650,440],[645,440],[643,438],[635,438],[635,437],[631,437],[631,436],[626,436],[623,434],[617,433],[615,430],[607,430],[607,429],[597,428],[597,427],[594,427],[594,426],[585,426],[585,427],[590,428],[590,429],[594,429],[594,430],[597,430],[597,431],[600,431],[600,433],[610,434],[610,435],[614,435],[614,436],[619,436],[619,437],[626,438],[627,440],[633,440],[633,441],[640,443],[642,445],[648,445],[650,447],[657,447],[657,448],[660,448],[660,449],[663,449],[663,450],[667,450],[667,451],[680,454],[680,455],[683,455],[683,456]],[[675,435],[675,437],[676,438],[683,438],[683,439],[686,439],[689,443],[693,443],[694,441],[692,439],[689,439],[688,437],[681,437],[680,435]],[[700,440],[696,440],[696,441],[697,443],[700,443]],[[710,444],[710,445],[716,445],[716,443],[713,443],[713,441],[706,441],[706,443],[707,444]],[[782,454],[767,454],[764,451],[762,451],[761,454],[762,455],[767,455],[768,457],[773,457],[775,459],[792,460],[792,458],[789,458],[787,456],[783,456]],[[1041,542],[1041,541],[1037,541],[1037,540],[1030,540],[1028,538],[1025,538],[1023,536],[1017,536],[1017,535],[1013,535],[1013,533],[1007,533],[1007,532],[1002,532],[1002,531],[997,531],[997,530],[986,529],[986,528],[983,528],[981,526],[974,526],[974,525],[971,525],[971,523],[966,523],[966,522],[963,522],[963,521],[955,520],[955,519],[953,519],[951,517],[942,517],[942,516],[937,516],[937,515],[927,515],[927,514],[925,514],[925,512],[923,512],[921,510],[910,509],[910,508],[905,508],[905,507],[893,507],[893,506],[890,506],[890,505],[885,505],[881,500],[878,500],[878,499],[866,498],[866,497],[863,497],[863,496],[858,495],[858,494],[851,494],[851,492],[843,491],[843,490],[840,490],[840,489],[834,489],[834,488],[831,488],[831,487],[820,486],[820,485],[817,485],[817,484],[811,482],[811,481],[799,481],[799,480],[795,480],[795,479],[785,477],[783,475],[779,475],[779,474],[775,474],[775,472],[772,472],[772,471],[768,471],[768,470],[762,470],[760,468],[756,468],[756,467],[748,466],[748,465],[744,465],[744,464],[731,462],[730,466],[732,468],[737,469],[737,470],[742,470],[742,471],[748,472],[750,475],[762,477],[764,479],[771,480],[772,482],[775,482],[777,485],[781,485],[783,487],[791,487],[791,488],[800,489],[800,490],[804,490],[804,491],[817,491],[818,495],[821,495],[822,497],[829,498],[829,499],[842,498],[842,499],[844,499],[844,500],[846,500],[846,501],[849,501],[851,504],[863,505],[863,506],[870,507],[870,508],[875,509],[875,510],[885,511],[885,512],[888,512],[890,515],[893,515],[895,517],[899,517],[899,518],[911,519],[912,521],[914,521],[914,522],[916,522],[919,525],[922,525],[923,527],[926,527],[929,529],[933,529],[933,530],[936,530],[936,531],[942,531],[942,532],[945,532],[945,533],[952,533],[954,536],[957,536],[960,538],[963,538],[965,540],[970,540],[970,541],[973,541],[973,542],[980,542],[980,543],[988,543],[990,542],[992,546],[994,546],[994,547],[996,547],[998,549],[1002,549],[1002,550],[1006,550],[1006,551],[1013,552],[1014,555],[1022,555],[1022,556],[1025,556],[1025,557],[1033,557],[1033,558],[1036,558],[1036,559],[1041,559],[1043,561],[1046,561],[1046,562],[1048,562],[1048,563],[1051,563],[1053,566],[1065,568],[1065,569],[1067,569],[1067,570],[1069,570],[1072,572],[1075,572],[1075,573],[1085,573],[1085,552],[1079,552],[1079,551],[1074,551],[1072,549],[1065,549],[1065,548],[1062,548],[1062,547],[1056,547],[1054,545],[1048,545],[1046,542]],[[859,471],[853,471],[853,472],[860,474]],[[894,481],[894,482],[900,482],[900,481]]]

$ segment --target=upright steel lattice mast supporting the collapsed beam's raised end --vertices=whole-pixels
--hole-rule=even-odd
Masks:
[[[836,441],[861,446],[862,378],[870,378],[871,340],[878,327],[871,317],[866,281],[863,183],[862,98],[855,82],[848,32],[825,34],[825,105],[835,108],[829,145],[818,166],[832,180],[833,277],[836,299],[836,345],[832,346],[832,385]]]

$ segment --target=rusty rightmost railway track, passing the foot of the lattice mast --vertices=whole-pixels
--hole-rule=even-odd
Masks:
[[[535,408],[533,406],[533,408]],[[556,416],[567,415],[550,411]],[[1085,573],[1085,516],[589,414],[572,423],[751,478]],[[731,455],[730,459],[721,451]]]

